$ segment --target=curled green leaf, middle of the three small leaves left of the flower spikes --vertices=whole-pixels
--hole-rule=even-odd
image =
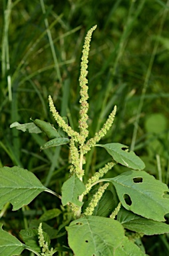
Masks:
[[[55,127],[53,127],[53,125],[51,125],[51,123],[47,123],[47,122],[39,120],[39,119],[35,119],[33,122],[42,131],[44,131],[44,133],[46,133],[46,135],[47,135],[47,137],[49,137],[49,139],[55,139],[55,138],[61,137],[61,135],[57,132]]]

